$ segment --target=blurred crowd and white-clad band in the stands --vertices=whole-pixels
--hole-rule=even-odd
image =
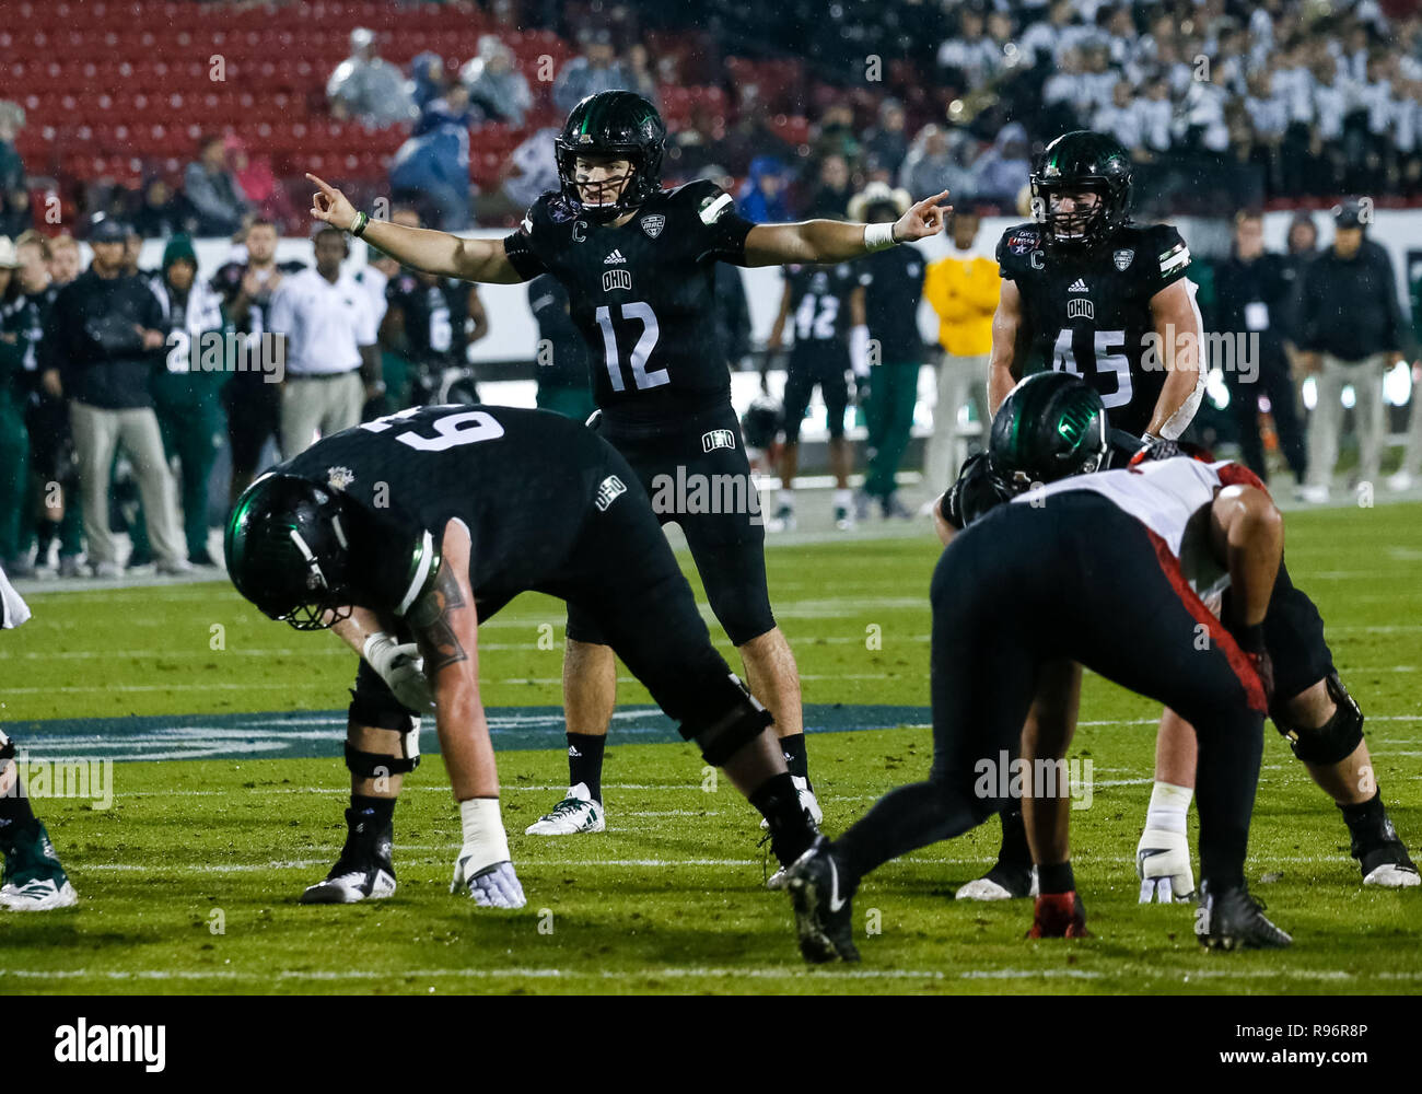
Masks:
[[[1234,206],[1422,195],[1418,0],[796,0],[775,11],[707,0],[694,24],[644,3],[491,9],[502,26],[552,20],[574,47],[555,65],[516,54],[519,31],[471,33],[469,55],[425,50],[397,65],[383,50],[398,23],[357,27],[324,83],[333,122],[404,135],[370,182],[442,228],[515,221],[529,184],[549,181],[546,154],[520,142],[536,147],[607,88],[668,112],[668,181],[725,179],[758,218],[843,216],[848,193],[876,181],[1010,212],[1032,152],[1071,128],[1132,151],[1153,179],[1152,213],[1217,206],[1221,188]],[[0,105],[0,229],[11,238],[43,228],[16,151],[17,98]],[[250,132],[213,129],[198,145],[186,169],[85,188],[77,212],[159,235],[230,235],[246,211],[299,225],[296,158],[274,165]]]

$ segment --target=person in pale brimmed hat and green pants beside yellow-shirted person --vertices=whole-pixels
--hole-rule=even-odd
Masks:
[[[870,184],[849,202],[849,219],[866,223],[893,223],[909,211],[907,191]],[[876,250],[859,263],[865,282],[865,326],[870,346],[877,346],[867,361],[865,424],[866,474],[863,489],[855,498],[856,518],[869,518],[869,505],[877,501],[884,518],[912,516],[899,499],[899,464],[909,448],[913,431],[913,407],[919,398],[919,368],[923,364],[923,339],[919,336],[919,300],[923,297],[923,253],[913,243]]]

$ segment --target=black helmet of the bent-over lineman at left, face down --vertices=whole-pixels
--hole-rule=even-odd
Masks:
[[[228,575],[272,619],[321,630],[350,615],[348,526],[337,494],[269,472],[242,492],[228,518]]]

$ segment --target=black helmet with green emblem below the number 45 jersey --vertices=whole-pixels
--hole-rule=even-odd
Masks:
[[[1102,467],[1109,447],[1101,395],[1072,373],[1032,373],[993,418],[988,464],[1010,494]]]

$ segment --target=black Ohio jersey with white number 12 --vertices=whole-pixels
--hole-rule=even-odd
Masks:
[[[707,181],[656,193],[620,228],[579,218],[549,192],[503,249],[525,280],[552,273],[567,289],[592,351],[593,398],[609,420],[674,424],[729,398],[711,313],[714,263],[744,265],[751,228]]]

